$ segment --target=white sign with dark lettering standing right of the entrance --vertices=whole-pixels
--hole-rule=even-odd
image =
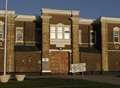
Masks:
[[[71,72],[85,72],[86,71],[86,63],[79,63],[79,64],[72,64],[71,65]]]

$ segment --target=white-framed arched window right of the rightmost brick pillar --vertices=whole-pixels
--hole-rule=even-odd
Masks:
[[[114,27],[113,28],[113,42],[114,43],[119,43],[120,42],[120,28],[119,27]]]

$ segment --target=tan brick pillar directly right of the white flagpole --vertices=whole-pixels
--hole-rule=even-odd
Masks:
[[[7,72],[14,72],[14,16],[8,16],[8,32],[7,32]]]

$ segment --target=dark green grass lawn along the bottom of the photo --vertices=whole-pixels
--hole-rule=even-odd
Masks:
[[[0,88],[120,88],[120,86],[81,79],[40,78],[25,79],[23,82],[9,80],[8,83],[0,83]]]

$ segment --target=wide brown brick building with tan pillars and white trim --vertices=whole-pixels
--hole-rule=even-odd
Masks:
[[[0,11],[0,73],[3,73],[5,11]],[[120,71],[120,18],[86,19],[76,10],[44,8],[40,16],[8,11],[7,72],[68,74]]]

